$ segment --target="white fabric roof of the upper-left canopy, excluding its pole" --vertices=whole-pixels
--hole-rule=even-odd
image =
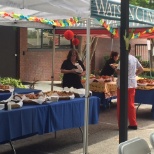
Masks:
[[[90,0],[0,0],[0,12],[16,13],[48,20],[90,17]],[[10,17],[0,18],[0,25],[51,29],[51,25]]]

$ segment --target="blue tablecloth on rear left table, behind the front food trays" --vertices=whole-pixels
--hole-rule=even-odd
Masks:
[[[14,89],[14,93],[18,93],[18,94],[28,94],[28,93],[31,93],[31,92],[39,93],[40,91],[41,90],[38,90],[38,89],[25,89],[25,88],[15,88]],[[0,93],[0,101],[8,99],[10,96],[11,96],[10,92]]]

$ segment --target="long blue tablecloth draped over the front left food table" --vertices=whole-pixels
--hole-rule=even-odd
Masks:
[[[84,125],[84,98],[25,105],[10,111],[0,110],[0,143]],[[90,97],[89,124],[97,124],[100,99]]]

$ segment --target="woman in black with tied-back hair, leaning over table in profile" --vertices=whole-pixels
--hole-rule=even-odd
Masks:
[[[119,53],[112,51],[110,58],[106,61],[100,75],[107,75],[107,76],[114,75],[115,70],[112,67],[112,65],[114,65],[118,59],[119,59]]]

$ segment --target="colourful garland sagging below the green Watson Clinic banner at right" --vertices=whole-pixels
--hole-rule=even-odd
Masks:
[[[105,29],[107,29],[114,37],[118,37],[118,36],[119,36],[119,34],[118,34],[118,29],[110,27],[110,25],[107,24],[106,21],[105,21],[104,19],[101,19],[101,20],[100,20],[100,23],[101,23],[101,25],[102,25]],[[139,32],[139,33],[137,33],[137,34],[133,33],[131,39],[140,38],[140,37],[142,37],[144,34],[150,34],[150,33],[154,33],[154,27],[153,27],[153,28],[150,28],[150,29],[147,29],[147,30],[145,30],[145,31],[143,31],[143,32]]]

